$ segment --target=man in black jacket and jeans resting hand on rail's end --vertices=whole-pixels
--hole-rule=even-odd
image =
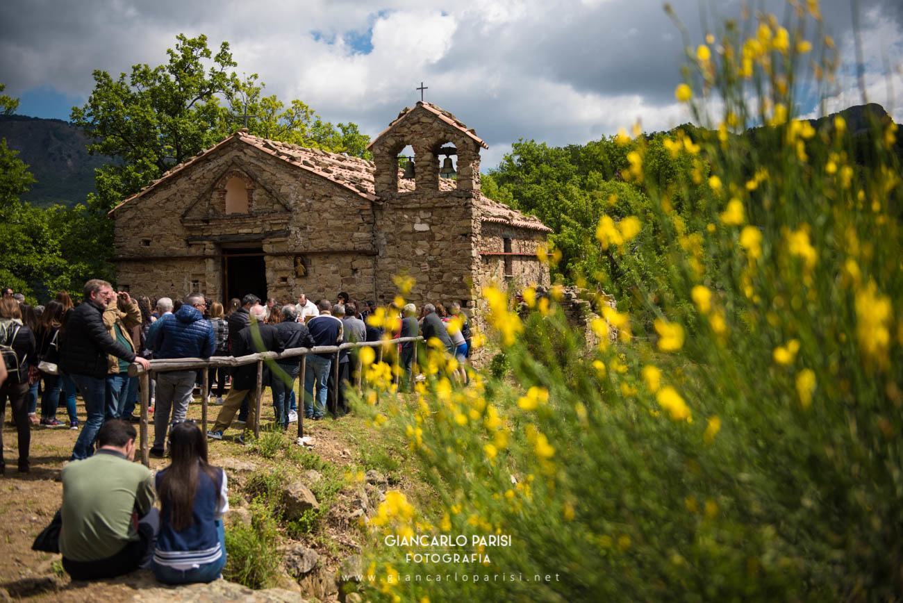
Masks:
[[[110,337],[104,311],[116,303],[113,285],[100,279],[85,283],[85,299],[71,311],[60,329],[60,370],[72,378],[85,399],[88,421],[72,449],[72,460],[87,459],[98,430],[104,423],[107,391],[107,355],[137,362],[146,370],[150,363]]]

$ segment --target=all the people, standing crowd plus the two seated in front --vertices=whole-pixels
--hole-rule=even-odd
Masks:
[[[63,569],[73,580],[112,578],[138,567],[152,568],[158,580],[170,584],[215,580],[226,562],[222,516],[228,511],[228,492],[226,472],[208,462],[207,441],[221,440],[236,416],[242,425],[255,422],[256,404],[249,403],[256,391],[256,363],[232,371],[209,369],[207,394],[214,394],[222,408],[206,437],[186,420],[202,373],[152,373],[151,453],[170,457],[169,466],[155,475],[134,462],[139,385],[128,367],[137,363],[148,369],[152,358],[240,357],[378,341],[386,337],[386,321],[368,323],[376,304],[359,303],[345,292],[336,302],[313,303],[299,293],[297,303],[283,304],[275,299],[261,303],[248,294],[231,300],[228,309],[199,293],[175,302],[168,297],[133,299],[97,279],[85,283],[83,293],[73,303],[67,292],[60,292],[43,307],[26,304],[8,288],[0,298],[0,418],[5,418],[8,400],[18,433],[19,471],[29,471],[33,425],[63,426],[56,413],[65,401],[65,424],[79,430],[77,393],[85,406],[85,421],[62,470],[60,512],[39,536],[42,545],[50,539],[55,548],[42,550],[59,550]],[[388,335],[438,339],[463,366],[469,356],[469,320],[458,304],[450,310],[429,303],[419,313],[414,304],[395,308],[397,325]],[[413,383],[413,358],[414,343],[400,344],[406,385]],[[338,418],[349,412],[345,387],[353,382],[357,365],[347,350],[340,353],[337,367],[332,366],[335,360],[330,353],[307,355],[303,413],[314,421],[326,413]],[[275,422],[282,429],[297,420],[293,383],[298,376],[297,357],[277,361],[272,370],[265,365],[264,384],[272,390]],[[2,451],[0,431],[0,455]],[[4,472],[0,456],[0,474]]]

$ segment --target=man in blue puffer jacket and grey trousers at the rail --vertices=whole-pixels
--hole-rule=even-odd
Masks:
[[[206,308],[204,296],[191,293],[185,298],[179,311],[163,316],[160,326],[148,332],[146,341],[147,348],[154,350],[154,358],[209,358],[216,349],[216,339],[213,326],[209,320],[204,320],[203,312]],[[170,424],[185,420],[197,375],[198,371],[195,369],[157,374],[152,457],[163,457],[163,444]]]

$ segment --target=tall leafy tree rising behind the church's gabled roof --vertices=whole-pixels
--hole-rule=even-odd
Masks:
[[[264,97],[256,74],[239,78],[228,42],[214,54],[207,36],[179,34],[166,54],[165,64],[135,64],[118,78],[95,70],[88,102],[72,108],[72,123],[95,141],[88,150],[116,160],[98,170],[98,210],[112,209],[240,127],[326,151],[365,151],[368,138],[357,125],[332,125],[297,99],[286,106]]]

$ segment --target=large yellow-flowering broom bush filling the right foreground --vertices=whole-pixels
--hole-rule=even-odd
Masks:
[[[729,23],[718,41],[729,51],[715,56],[706,46],[692,59],[723,114],[698,140],[668,139],[669,153],[696,169],[647,186],[653,210],[643,228],[655,240],[623,219],[600,223],[600,246],[624,265],[666,260],[661,283],[632,283],[652,320],[603,309],[592,327],[604,335],[618,326],[619,341],[586,349],[554,303],[534,304],[525,326],[506,296],[487,288],[488,320],[517,386],[477,374],[461,387],[453,360],[424,358],[417,404],[370,407],[377,427],[405,429],[442,510],[387,493],[365,551],[375,577],[363,582],[372,584],[368,596],[886,600],[903,592],[896,125],[870,124],[874,162],[856,166],[842,118],[817,129],[792,119],[808,42],[788,38],[803,29],[788,14],[786,29],[762,17],[748,40]],[[747,107],[756,90],[764,96]],[[704,121],[705,107],[693,108]],[[759,119],[768,127],[755,144],[733,134]],[[643,142],[635,148],[627,177],[642,179]],[[690,206],[682,215],[678,192]],[[547,353],[543,341],[566,353]],[[377,371],[369,383],[390,389]],[[511,541],[469,543],[454,552],[489,560],[462,565],[405,561],[410,549],[386,546],[387,533]],[[463,572],[480,580],[405,580]],[[530,580],[546,574],[554,579]]]

